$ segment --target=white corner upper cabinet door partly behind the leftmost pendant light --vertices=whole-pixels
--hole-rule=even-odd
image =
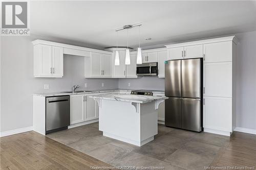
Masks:
[[[119,51],[119,63],[119,65],[113,64],[114,77],[125,77],[125,51]]]

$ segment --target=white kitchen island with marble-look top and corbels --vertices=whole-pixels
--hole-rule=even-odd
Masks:
[[[154,140],[157,134],[157,109],[165,96],[99,94],[89,96],[99,105],[99,130],[137,146]]]

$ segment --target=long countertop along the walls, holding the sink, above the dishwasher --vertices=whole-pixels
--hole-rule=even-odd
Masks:
[[[78,90],[79,91],[79,90]],[[34,93],[33,95],[37,96],[44,96],[44,97],[50,97],[50,96],[59,96],[59,95],[74,95],[74,94],[88,94],[88,93],[102,93],[102,92],[114,92],[114,91],[132,91],[132,89],[105,89],[105,90],[88,90],[84,92],[51,92],[51,93]],[[152,91],[153,93],[161,93],[164,94],[164,91],[162,90],[148,90]]]

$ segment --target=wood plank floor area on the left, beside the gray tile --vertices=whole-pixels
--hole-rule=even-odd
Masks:
[[[1,137],[1,169],[90,169],[106,166],[34,131]]]

